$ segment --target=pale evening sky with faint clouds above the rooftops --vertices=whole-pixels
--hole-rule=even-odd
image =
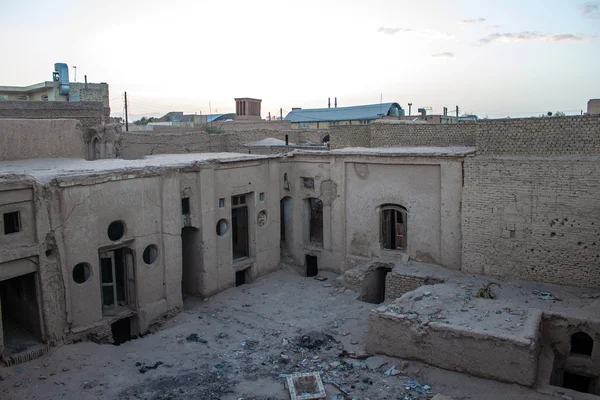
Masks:
[[[500,118],[600,98],[600,0],[0,0],[0,85],[107,82],[113,116],[398,102]]]

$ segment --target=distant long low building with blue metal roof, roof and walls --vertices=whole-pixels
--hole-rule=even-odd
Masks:
[[[398,103],[363,106],[292,109],[285,117],[296,129],[327,129],[335,125],[368,125],[386,116],[399,117],[404,113]]]

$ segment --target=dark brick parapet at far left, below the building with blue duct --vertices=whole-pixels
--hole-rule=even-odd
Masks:
[[[83,128],[110,120],[110,109],[100,102],[0,101],[0,119],[76,119]]]

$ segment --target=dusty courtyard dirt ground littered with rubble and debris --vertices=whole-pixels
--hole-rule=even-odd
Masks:
[[[320,276],[328,279],[286,267],[206,301],[188,298],[143,338],[70,344],[2,367],[0,399],[289,399],[284,376],[299,372],[320,372],[336,400],[556,399],[417,362],[349,357],[364,355],[375,306],[336,288],[336,275]]]

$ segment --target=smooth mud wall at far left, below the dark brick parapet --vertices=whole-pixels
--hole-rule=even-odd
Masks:
[[[82,126],[75,119],[0,119],[1,161],[86,155]]]

